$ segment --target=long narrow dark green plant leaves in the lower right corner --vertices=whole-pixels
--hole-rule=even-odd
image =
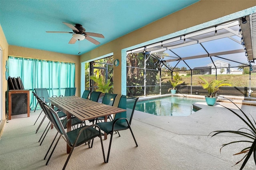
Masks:
[[[225,98],[225,99],[227,99],[227,98]],[[232,102],[230,99],[228,99],[228,100],[230,102]],[[236,164],[238,164],[238,163],[242,162],[242,160],[244,160],[244,162],[243,162],[243,164],[242,164],[242,166],[240,168],[240,170],[242,170],[244,168],[244,166],[246,165],[246,163],[248,162],[248,160],[249,160],[250,156],[252,155],[252,153],[253,153],[254,162],[255,162],[255,165],[256,165],[256,123],[255,123],[255,120],[253,118],[252,118],[253,119],[253,122],[252,122],[249,119],[249,117],[234,102],[232,102],[232,103],[242,112],[242,114],[244,115],[245,119],[242,118],[235,111],[233,111],[233,110],[231,110],[231,109],[229,109],[229,108],[227,108],[227,107],[225,107],[223,105],[221,105],[221,106],[225,107],[226,109],[228,109],[229,111],[234,113],[236,116],[238,116],[248,126],[248,128],[240,128],[237,131],[234,131],[234,130],[217,130],[217,131],[211,132],[209,135],[211,135],[212,133],[214,133],[214,134],[212,134],[212,136],[216,136],[217,134],[221,134],[221,133],[232,133],[232,134],[238,134],[238,135],[241,135],[241,136],[244,136],[244,137],[247,137],[248,139],[250,139],[250,140],[238,140],[238,141],[233,141],[233,142],[229,142],[229,143],[226,143],[226,144],[222,144],[222,147],[220,148],[220,152],[221,152],[221,149],[224,146],[227,146],[229,144],[239,143],[239,142],[249,142],[249,143],[252,143],[252,145],[250,147],[246,147],[246,148],[242,149],[240,152],[234,154],[234,155],[245,154],[245,156],[241,160],[236,162]],[[248,130],[249,132],[251,132],[251,134],[247,133],[247,132],[240,131],[242,129]]]

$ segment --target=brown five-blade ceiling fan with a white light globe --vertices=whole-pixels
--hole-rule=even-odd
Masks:
[[[75,26],[73,26],[72,24],[68,24],[66,22],[63,22],[63,24],[65,24],[66,26],[71,28],[73,30],[73,32],[63,32],[63,31],[46,31],[46,32],[47,33],[70,33],[70,34],[72,34],[72,38],[68,42],[70,44],[76,43],[76,40],[81,41],[81,40],[86,39],[86,40],[94,43],[95,45],[99,45],[100,42],[98,42],[97,40],[95,40],[94,38],[91,38],[89,36],[104,38],[104,36],[102,34],[93,33],[93,32],[85,32],[85,29],[80,24],[76,24]]]

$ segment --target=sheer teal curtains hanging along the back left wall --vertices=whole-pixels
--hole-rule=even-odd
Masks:
[[[31,109],[36,107],[36,99],[32,94],[35,88],[46,88],[51,97],[64,96],[66,87],[75,87],[74,63],[9,56],[8,72],[10,77],[20,77],[24,89],[30,90]]]

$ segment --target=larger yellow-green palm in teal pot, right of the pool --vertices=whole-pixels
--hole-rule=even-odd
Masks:
[[[223,83],[226,80],[212,80],[208,82],[206,79],[202,77],[199,78],[202,80],[201,82],[199,82],[199,84],[202,85],[202,87],[208,91],[209,96],[205,96],[205,100],[207,105],[209,106],[215,105],[218,97],[214,97],[214,95],[216,94],[217,91],[220,90],[219,87],[232,86],[231,84]]]

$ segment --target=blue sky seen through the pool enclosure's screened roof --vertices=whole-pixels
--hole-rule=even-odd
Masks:
[[[237,37],[237,36],[234,36],[233,38],[235,38],[235,37]],[[213,40],[213,41],[209,41],[209,42],[203,42],[201,44],[203,45],[204,48],[199,43],[197,43],[194,45],[188,45],[188,46],[179,47],[176,49],[171,49],[171,51],[166,50],[166,51],[164,51],[164,53],[168,53],[169,56],[177,57],[177,55],[178,55],[179,57],[183,58],[183,57],[191,57],[191,56],[196,56],[196,55],[207,55],[206,50],[208,51],[208,53],[218,53],[218,52],[223,52],[223,51],[244,49],[244,47],[240,43],[235,42],[234,40],[232,40],[230,38],[222,38],[222,39]],[[230,67],[239,67],[239,65],[241,63],[249,64],[244,52],[228,54],[228,55],[217,55],[217,56],[225,58],[225,59],[213,56],[212,60],[213,61],[221,60],[221,61],[230,63]],[[174,59],[174,58],[173,57],[164,57],[164,60],[168,60],[168,59]],[[229,61],[227,59],[230,59],[232,61]],[[210,57],[203,57],[203,58],[198,58],[198,59],[188,59],[188,60],[184,60],[184,61],[187,63],[187,65],[191,69],[193,69],[194,67],[206,67],[208,64],[212,63],[212,60],[210,59]],[[237,61],[239,63],[233,62],[233,61]],[[177,63],[178,63],[178,61],[169,62],[169,65],[174,67]],[[188,68],[186,63],[184,63],[183,61],[180,61],[176,67]],[[254,64],[255,63],[252,63],[252,65],[254,65]]]

